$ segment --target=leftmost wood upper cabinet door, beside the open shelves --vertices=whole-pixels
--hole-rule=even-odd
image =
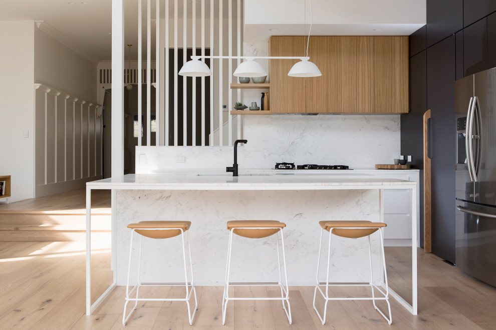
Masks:
[[[272,36],[271,56],[305,56],[304,36]],[[270,108],[272,113],[306,112],[306,78],[290,77],[288,72],[299,59],[270,60]]]

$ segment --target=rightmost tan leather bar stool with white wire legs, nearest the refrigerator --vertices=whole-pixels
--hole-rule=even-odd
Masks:
[[[319,315],[320,320],[322,321],[322,325],[326,322],[326,313],[327,313],[327,303],[329,300],[372,300],[374,304],[374,308],[381,313],[381,315],[387,320],[388,324],[391,324],[391,305],[389,304],[389,286],[387,284],[387,272],[386,272],[386,257],[384,254],[384,238],[383,238],[383,229],[386,224],[384,222],[371,222],[371,221],[319,221],[320,226],[322,227],[321,235],[320,235],[320,244],[319,244],[319,259],[317,261],[317,285],[314,290],[314,309]],[[328,255],[327,255],[327,277],[326,277],[326,292],[324,293],[321,289],[321,282],[319,281],[319,269],[320,269],[320,255],[322,252],[322,236],[324,231],[329,231],[329,247],[328,247]],[[381,261],[382,266],[384,268],[384,282],[386,286],[386,291],[384,292],[380,287],[378,287],[373,282],[372,277],[372,252],[370,248],[370,235],[376,231],[380,233],[380,245],[381,245]],[[370,263],[370,282],[363,284],[330,284],[329,283],[329,273],[331,267],[331,238],[332,235],[337,235],[346,238],[360,238],[367,237],[369,243],[369,263]],[[329,286],[370,286],[372,289],[372,297],[330,297],[329,296]],[[376,288],[383,296],[376,297],[374,294],[374,288]],[[315,297],[317,295],[317,290],[320,291],[326,302],[324,304],[324,315],[321,316],[317,307],[315,306]],[[389,318],[380,310],[376,304],[375,300],[386,300]]]

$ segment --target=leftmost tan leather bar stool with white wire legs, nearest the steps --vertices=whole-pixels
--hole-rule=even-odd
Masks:
[[[196,290],[194,287],[193,281],[193,264],[191,261],[191,248],[189,244],[189,232],[188,229],[191,226],[191,221],[140,221],[138,223],[128,224],[127,227],[131,228],[131,242],[129,247],[129,266],[127,271],[127,285],[126,285],[126,303],[124,304],[124,313],[122,315],[122,324],[126,325],[127,320],[131,316],[134,310],[136,310],[136,306],[138,305],[138,301],[186,301],[186,305],[188,307],[188,318],[189,325],[193,325],[193,318],[198,309],[198,302],[196,300]],[[138,283],[134,285],[134,287],[129,290],[129,274],[131,273],[131,254],[133,251],[133,234],[134,232],[140,234],[140,243],[139,243],[139,260],[138,260]],[[184,246],[184,234],[186,234],[186,239],[188,241],[188,254],[189,254],[189,271],[191,272],[191,282],[188,282],[188,269],[186,267],[186,251]],[[141,245],[143,242],[143,236],[155,238],[155,239],[164,239],[170,238],[177,235],[181,235],[182,241],[182,256],[184,262],[184,282],[180,283],[141,283],[140,281],[140,265],[141,265]],[[140,286],[144,285],[184,285],[186,288],[186,295],[184,298],[139,298],[138,292]],[[189,286],[191,287],[189,287]],[[131,298],[130,295],[133,291],[136,290],[136,297]],[[191,314],[189,307],[189,300],[191,298],[191,293],[194,295],[194,309]],[[135,301],[133,309],[126,316],[126,307],[129,301]]]

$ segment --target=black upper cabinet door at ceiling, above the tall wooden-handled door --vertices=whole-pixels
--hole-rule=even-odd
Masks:
[[[463,28],[463,0],[427,0],[427,47]]]

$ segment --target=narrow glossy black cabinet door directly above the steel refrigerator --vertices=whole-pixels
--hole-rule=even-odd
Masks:
[[[465,76],[488,69],[487,18],[463,29],[463,67]]]

